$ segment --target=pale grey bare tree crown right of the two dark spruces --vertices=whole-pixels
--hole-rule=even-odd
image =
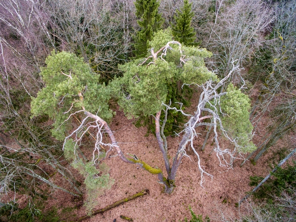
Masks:
[[[222,1],[218,2],[206,46],[214,53],[213,66],[222,76],[231,70],[232,59],[243,67],[254,56],[265,41],[263,34],[272,21],[272,10],[261,0],[238,0],[227,7],[222,6]]]

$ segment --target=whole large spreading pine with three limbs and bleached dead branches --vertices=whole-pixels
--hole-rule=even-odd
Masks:
[[[213,124],[215,124],[215,141],[218,148],[216,126],[220,124],[227,139],[234,140],[233,143],[239,141],[235,143],[236,145],[240,143],[241,149],[239,151],[253,150],[254,145],[249,143],[252,132],[252,125],[249,121],[249,98],[232,84],[229,84],[226,93],[218,93],[218,89],[225,83],[231,72],[228,77],[219,80],[217,75],[210,72],[205,66],[204,59],[210,57],[211,52],[195,46],[185,46],[172,39],[170,29],[156,32],[152,40],[148,41],[148,47],[151,48],[148,57],[119,66],[123,76],[113,79],[108,86],[100,84],[99,76],[94,74],[89,65],[83,63],[83,60],[74,54],[68,52],[55,54],[53,52],[46,59],[47,66],[41,70],[45,87],[38,92],[37,98],[32,99],[32,113],[33,115],[45,114],[54,120],[52,133],[57,139],[64,140],[66,158],[72,160],[74,165],[78,164],[79,170],[86,176],[84,183],[89,195],[92,195],[92,192],[97,192],[94,191],[96,188],[110,187],[109,175],[107,173],[101,174],[100,170],[98,171],[92,165],[100,158],[101,148],[99,145],[106,146],[103,142],[103,127],[120,158],[128,163],[142,164],[142,167],[150,173],[153,171],[152,173],[159,174],[158,178],[162,178],[167,193],[173,191],[173,184],[168,182],[175,181],[180,163],[178,161],[181,161],[185,156],[180,156],[179,153],[182,153],[182,149],[186,146],[185,143],[189,140],[193,141],[193,137],[191,137],[193,133],[184,134],[185,139],[182,139],[183,144],[181,143],[178,147],[179,151],[172,163],[172,169],[174,169],[172,171],[169,166],[169,158],[166,156],[165,147],[167,148],[167,145],[161,144],[165,140],[163,128],[160,132],[159,117],[161,112],[171,111],[167,116],[167,122],[171,125],[175,123],[175,120],[178,121],[178,116],[175,115],[177,112],[189,117],[187,126],[185,126],[188,132],[197,127],[196,124],[202,124],[201,120],[212,118]],[[203,90],[194,114],[186,114],[182,111],[181,103],[188,102],[184,91],[182,91],[182,86],[186,84],[186,87],[194,84]],[[148,169],[144,161],[126,158],[117,146],[116,139],[105,121],[111,119],[113,115],[109,107],[111,97],[116,99],[120,108],[129,118],[148,117],[157,113],[155,115],[157,116],[155,118],[155,132],[159,147],[164,153],[168,179],[162,176],[161,170],[149,167]],[[205,108],[206,104],[209,104],[213,110]],[[77,126],[77,121],[79,126]],[[74,122],[76,122],[76,126],[73,130]],[[162,123],[162,125],[165,124]],[[97,154],[93,155],[91,163],[86,160],[82,162],[82,158],[79,158],[77,154],[81,152],[78,147],[82,138],[89,133],[88,130],[96,131],[94,151]],[[82,157],[85,159],[83,155]],[[93,201],[95,200],[89,200],[90,204]]]

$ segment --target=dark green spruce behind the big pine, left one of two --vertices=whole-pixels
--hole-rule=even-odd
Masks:
[[[147,54],[148,41],[153,37],[153,33],[158,31],[163,23],[161,15],[158,13],[159,2],[157,0],[136,0],[136,16],[141,30],[135,37],[135,54],[137,57],[145,57]]]

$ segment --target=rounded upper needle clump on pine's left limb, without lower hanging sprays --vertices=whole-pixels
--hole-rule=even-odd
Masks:
[[[69,52],[52,52],[45,63],[47,66],[40,73],[45,87],[38,92],[37,98],[32,98],[31,112],[33,116],[46,114],[55,120],[54,137],[61,141],[65,139],[71,129],[71,121],[66,120],[74,118],[71,113],[81,111],[82,107],[98,112],[104,119],[111,119],[109,88],[100,84],[99,75],[94,74],[82,58]]]

